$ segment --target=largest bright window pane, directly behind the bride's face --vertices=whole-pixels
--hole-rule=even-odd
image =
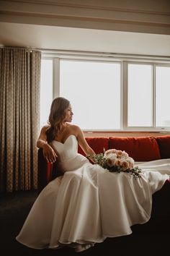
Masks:
[[[62,60],[60,95],[81,129],[120,129],[120,64]]]

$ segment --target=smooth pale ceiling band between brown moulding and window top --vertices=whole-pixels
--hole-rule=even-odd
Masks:
[[[170,35],[0,22],[0,46],[170,56]]]

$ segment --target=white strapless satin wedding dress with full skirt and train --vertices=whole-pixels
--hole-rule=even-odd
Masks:
[[[130,226],[151,217],[152,194],[170,174],[170,159],[142,163],[142,177],[111,173],[78,153],[78,142],[53,140],[66,171],[35,200],[17,241],[27,247],[93,244],[132,233]]]

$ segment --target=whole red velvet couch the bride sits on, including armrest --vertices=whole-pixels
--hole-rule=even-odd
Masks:
[[[109,148],[125,150],[135,161],[152,161],[161,158],[170,158],[170,135],[159,137],[86,137],[86,141],[95,153],[103,152]],[[79,153],[84,152],[79,148]],[[45,161],[42,149],[38,150],[38,192],[45,187],[50,180],[60,176],[56,163],[51,165]],[[158,223],[163,229],[169,229],[170,218],[170,182],[167,180],[164,186],[153,194],[151,220],[146,225],[154,230]],[[151,228],[150,228],[151,227]],[[138,229],[133,226],[132,229]]]

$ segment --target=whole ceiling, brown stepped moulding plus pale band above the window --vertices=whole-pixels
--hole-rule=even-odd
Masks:
[[[0,46],[170,57],[170,2],[0,0]]]

